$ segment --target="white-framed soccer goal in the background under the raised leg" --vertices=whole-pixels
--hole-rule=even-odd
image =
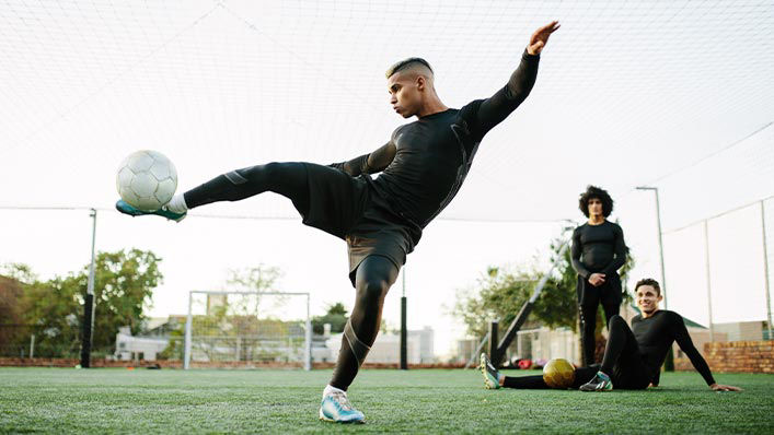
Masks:
[[[188,292],[183,368],[301,366],[312,368],[310,294]]]

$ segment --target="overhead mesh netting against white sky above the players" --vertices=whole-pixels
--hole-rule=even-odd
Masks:
[[[620,193],[774,120],[770,1],[13,0],[0,7],[0,184],[35,162],[61,188],[3,202],[109,207],[112,183],[94,180],[138,148],[169,155],[182,188],[272,160],[360,155],[403,122],[383,78],[395,60],[428,59],[459,107],[501,87],[552,19],[563,27],[536,87],[442,217],[573,217],[589,181]],[[593,180],[585,155],[605,168]],[[71,171],[85,162],[101,164]],[[296,215],[269,200],[228,213]]]

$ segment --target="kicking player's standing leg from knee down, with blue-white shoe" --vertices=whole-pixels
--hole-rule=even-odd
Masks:
[[[342,349],[333,377],[320,407],[320,418],[336,422],[362,422],[363,415],[348,401],[346,390],[355,379],[368,351],[377,339],[382,320],[384,296],[397,279],[397,267],[381,256],[367,257],[356,272],[355,308],[344,327]]]

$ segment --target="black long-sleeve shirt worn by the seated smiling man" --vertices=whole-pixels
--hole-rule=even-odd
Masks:
[[[688,333],[685,322],[679,314],[659,309],[648,318],[637,315],[632,319],[632,332],[637,339],[639,352],[645,358],[645,365],[650,368],[654,385],[658,385],[661,364],[667,357],[667,351],[675,341],[691,360],[691,364],[704,377],[707,385],[715,384],[707,362],[693,345],[693,340]]]

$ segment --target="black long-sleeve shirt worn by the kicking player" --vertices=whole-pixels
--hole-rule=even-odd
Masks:
[[[539,60],[524,51],[508,84],[489,98],[401,126],[374,152],[332,166],[351,176],[381,172],[377,179],[366,179],[420,235],[459,191],[484,134],[527,98]]]

